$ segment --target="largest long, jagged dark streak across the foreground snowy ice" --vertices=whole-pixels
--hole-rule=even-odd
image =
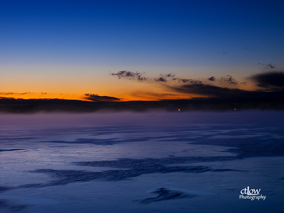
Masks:
[[[173,160],[172,160],[173,159]],[[55,178],[46,183],[23,184],[15,187],[0,187],[0,192],[19,188],[38,188],[54,185],[64,185],[72,182],[85,182],[91,180],[119,181],[130,180],[147,174],[168,173],[204,173],[204,172],[227,172],[239,171],[232,169],[211,169],[206,166],[164,166],[169,163],[180,163],[182,158],[170,157],[166,159],[118,159],[114,161],[74,162],[79,166],[112,167],[120,170],[107,170],[103,172],[90,172],[84,170],[54,170],[37,169],[31,173],[43,173]],[[171,161],[170,161],[171,160]],[[187,162],[187,161],[185,161]]]

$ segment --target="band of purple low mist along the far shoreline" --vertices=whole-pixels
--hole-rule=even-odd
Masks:
[[[0,127],[84,127],[111,125],[284,124],[284,111],[192,111],[0,114]]]

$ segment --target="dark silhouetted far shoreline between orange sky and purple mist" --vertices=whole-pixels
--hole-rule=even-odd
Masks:
[[[284,110],[284,102],[238,102],[220,103],[199,100],[194,103],[192,100],[164,100],[164,101],[132,101],[115,102],[109,105],[95,103],[95,106],[79,105],[6,105],[0,106],[0,113],[38,113],[38,112],[68,112],[68,113],[90,113],[90,112],[190,112],[190,111],[235,111],[235,110]],[[178,110],[179,109],[179,110]]]

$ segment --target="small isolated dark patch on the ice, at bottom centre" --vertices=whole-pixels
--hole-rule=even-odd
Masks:
[[[157,196],[144,198],[144,199],[136,200],[136,201],[138,201],[140,204],[148,204],[152,202],[159,202],[159,201],[165,201],[165,200],[194,197],[194,195],[186,194],[183,191],[172,190],[168,188],[158,188],[157,190],[151,193],[157,194]]]

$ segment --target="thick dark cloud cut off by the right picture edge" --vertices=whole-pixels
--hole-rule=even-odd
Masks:
[[[270,71],[259,74],[254,74],[249,77],[254,81],[256,86],[262,88],[284,88],[284,73],[283,71]]]

